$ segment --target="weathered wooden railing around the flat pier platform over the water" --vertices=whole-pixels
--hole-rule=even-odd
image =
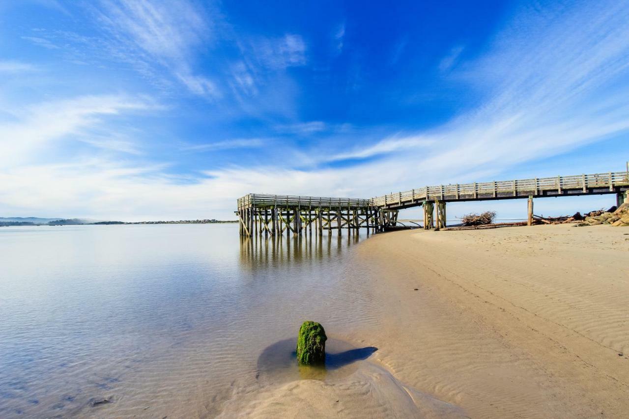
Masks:
[[[262,207],[325,207],[325,208],[366,208],[370,199],[359,198],[327,198],[321,196],[268,195],[248,194],[238,198],[238,210]]]

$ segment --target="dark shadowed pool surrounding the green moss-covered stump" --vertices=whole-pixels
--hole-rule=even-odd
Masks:
[[[295,352],[296,339],[284,339],[266,347],[258,357],[256,378],[282,382],[295,379],[330,379],[343,377],[355,371],[352,364],[370,357],[376,347],[355,348],[342,340],[328,338],[325,365],[300,366]]]

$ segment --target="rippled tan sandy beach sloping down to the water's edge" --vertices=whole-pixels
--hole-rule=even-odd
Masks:
[[[629,230],[609,226],[376,235],[355,263],[377,324],[339,338],[377,352],[223,415],[626,417],[628,251]]]

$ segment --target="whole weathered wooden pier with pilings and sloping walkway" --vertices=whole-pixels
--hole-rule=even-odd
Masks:
[[[629,170],[467,184],[425,186],[371,199],[248,194],[238,199],[240,234],[319,235],[324,230],[382,232],[398,223],[398,211],[421,206],[424,228],[444,228],[446,203],[494,199],[528,199],[528,223],[533,198],[616,194],[617,203],[629,202]],[[436,213],[436,214],[435,214]]]

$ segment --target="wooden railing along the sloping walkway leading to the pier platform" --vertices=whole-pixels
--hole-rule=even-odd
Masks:
[[[410,191],[391,193],[370,199],[372,206],[392,208],[417,201],[469,201],[472,199],[508,198],[509,196],[560,195],[589,193],[592,189],[629,186],[628,172],[581,174],[576,176],[540,177],[513,181],[425,186]]]

